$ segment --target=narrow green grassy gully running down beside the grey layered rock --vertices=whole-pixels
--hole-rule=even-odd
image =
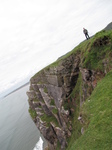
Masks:
[[[70,150],[71,145],[74,143],[74,141],[81,136],[81,124],[78,121],[79,111],[80,111],[81,83],[82,83],[82,78],[81,78],[81,75],[79,75],[77,84],[76,84],[75,88],[73,89],[73,91],[72,91],[72,93],[69,97],[69,99],[71,99],[71,101],[69,101],[69,104],[71,103],[70,107],[74,108],[74,113],[71,116],[73,129],[72,129],[72,135],[68,139],[68,148],[67,148],[67,150]]]

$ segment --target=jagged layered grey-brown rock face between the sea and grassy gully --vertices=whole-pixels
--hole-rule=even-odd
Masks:
[[[30,81],[30,108],[36,111],[35,124],[49,143],[50,149],[67,146],[71,136],[70,110],[65,110],[64,100],[70,95],[79,76],[80,57],[71,55],[57,67],[42,70]],[[39,108],[40,107],[40,108]]]

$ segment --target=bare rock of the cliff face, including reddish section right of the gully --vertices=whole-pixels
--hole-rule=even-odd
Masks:
[[[106,42],[105,39],[94,41],[93,46],[99,45],[99,41],[107,45],[110,39],[106,38]],[[66,149],[73,131],[72,118],[75,109],[82,106],[97,82],[110,70],[107,58],[102,58],[103,70],[84,67],[86,57],[80,50],[71,53],[60,60],[58,65],[48,66],[30,80],[30,89],[27,92],[29,112],[37,128],[48,141],[50,150],[57,147]],[[77,91],[74,90],[76,86],[80,87]],[[80,113],[77,119],[82,124],[80,132],[83,134],[84,122]]]

